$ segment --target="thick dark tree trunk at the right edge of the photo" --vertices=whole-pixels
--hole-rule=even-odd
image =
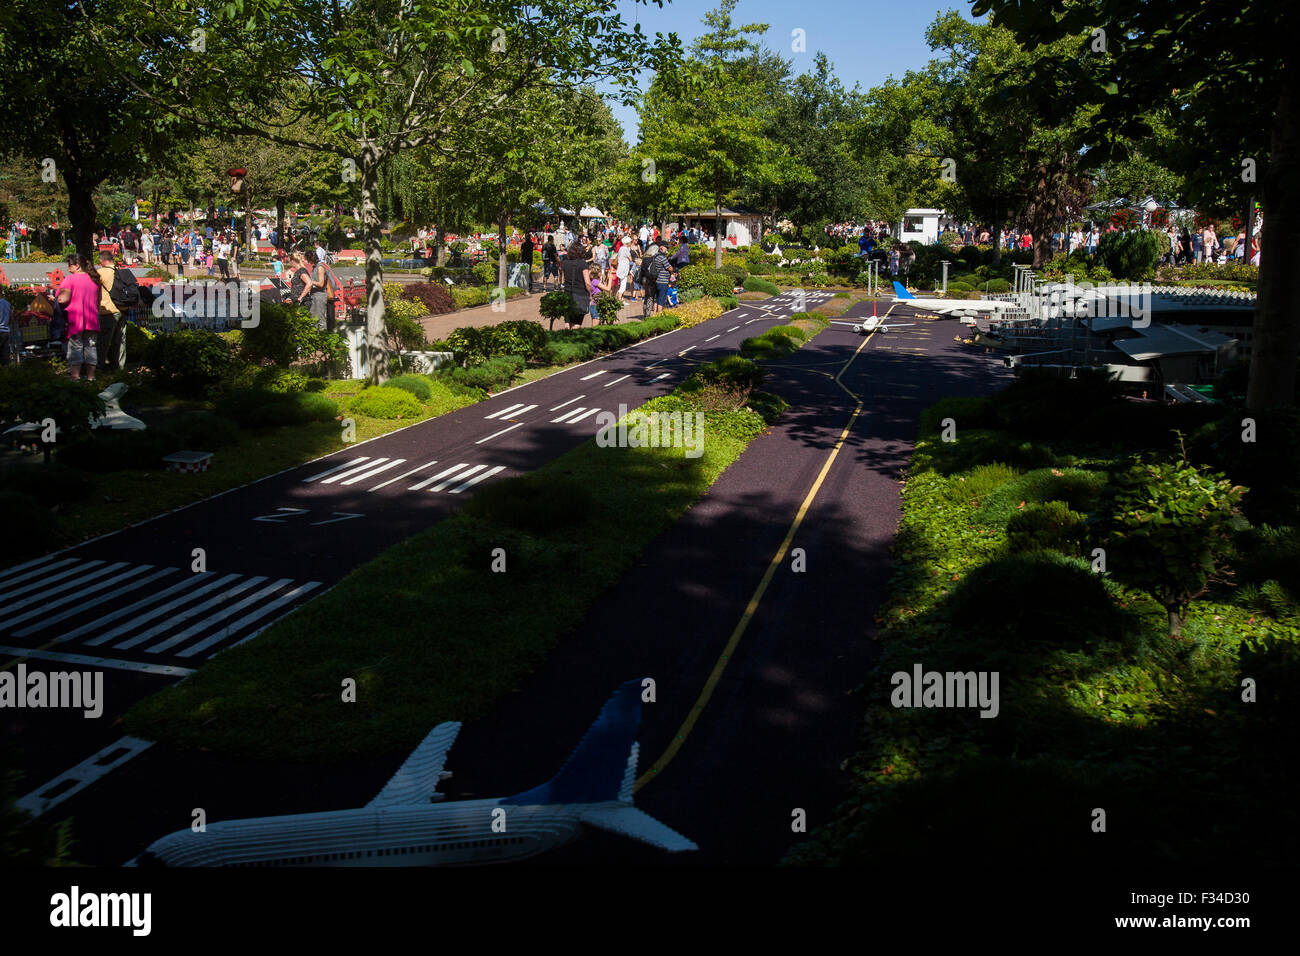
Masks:
[[[1300,77],[1283,72],[1273,142],[1264,173],[1260,230],[1260,298],[1245,403],[1252,410],[1294,406],[1300,354]],[[1268,242],[1265,242],[1268,239]],[[1249,250],[1247,250],[1249,255]]]

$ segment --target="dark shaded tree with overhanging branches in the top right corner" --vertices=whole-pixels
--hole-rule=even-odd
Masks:
[[[976,0],[972,13],[1015,31],[1024,47],[1087,30],[1104,40],[1100,82],[1080,91],[1098,105],[1091,130],[1108,160],[1150,130],[1167,108],[1173,133],[1161,161],[1186,177],[1186,199],[1216,212],[1265,209],[1260,300],[1247,402],[1295,402],[1300,355],[1300,64],[1294,4],[1149,4],[1144,0]],[[1104,31],[1095,35],[1093,30]],[[1089,46],[1091,48],[1091,46]],[[1247,217],[1248,219],[1248,217]]]

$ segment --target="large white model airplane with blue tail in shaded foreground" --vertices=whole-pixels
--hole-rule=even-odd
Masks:
[[[393,779],[356,810],[209,823],[156,840],[127,866],[445,866],[536,856],[568,843],[580,825],[670,852],[698,849],[632,805],[641,682],[606,702],[560,771],[495,800],[442,800],[438,783],[459,723],[439,723]]]

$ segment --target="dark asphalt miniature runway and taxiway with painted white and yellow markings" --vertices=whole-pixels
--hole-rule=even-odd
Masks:
[[[871,308],[859,303],[850,315],[871,315]],[[198,667],[211,653],[256,633],[358,564],[448,514],[478,486],[454,492],[464,484],[462,479],[495,468],[485,481],[530,471],[595,431],[594,415],[577,424],[551,419],[573,408],[618,414],[619,405],[636,407],[668,392],[696,364],[734,351],[742,338],[790,311],[798,310],[788,297],[745,303],[693,329],[638,343],[62,553],[58,559],[126,562],[127,570],[136,564],[177,568],[160,579],[168,583],[191,575],[191,551],[203,548],[205,580],[224,580],[208,598],[221,597],[225,588],[243,584],[244,589],[190,618],[173,622],[176,615],[162,615],[151,622],[160,628],[157,633],[125,649],[112,645],[136,632],[92,646],[73,639],[55,649],[112,656],[131,665]],[[890,317],[907,321],[905,312],[896,308]],[[961,328],[957,323],[913,321],[918,324],[871,337],[844,372],[842,385],[861,397],[863,407],[792,541],[792,549],[802,549],[806,570],[794,571],[792,555],[785,557],[692,734],[637,795],[640,806],[694,839],[701,852],[668,857],[628,840],[593,835],[540,862],[775,864],[801,839],[790,827],[796,809],[806,812],[811,830],[842,797],[838,763],[855,749],[864,701],[854,689],[874,657],[872,618],[890,574],[900,476],[916,419],[945,394],[983,393],[1001,377],[983,355],[953,342]],[[650,546],[641,566],[597,602],[580,630],[516,695],[488,719],[464,727],[447,765],[455,775],[442,788],[450,797],[504,796],[549,778],[612,688],[632,676],[656,682],[658,700],[644,709],[641,769],[659,758],[853,416],[855,397],[832,376],[859,345],[859,336],[833,325],[794,358],[772,364],[768,388],[790,410]],[[485,418],[520,405],[536,407]],[[497,434],[506,428],[511,431]],[[361,472],[330,472],[360,458],[367,459],[355,466]],[[364,476],[364,470],[384,468],[393,459],[404,460]],[[458,464],[482,467],[411,490]],[[342,484],[358,475],[361,479],[355,484]],[[441,490],[430,490],[439,485]],[[247,584],[250,576],[266,580]],[[183,637],[151,650],[203,622],[204,614],[220,613],[286,579],[261,601],[274,604],[286,594],[287,600],[247,627],[212,640],[220,633],[214,626],[207,637]],[[318,583],[315,589],[291,594],[312,581]],[[142,587],[133,597],[146,593]],[[95,640],[103,626],[87,628],[87,622],[127,604],[125,598],[105,601],[66,619],[60,630],[81,627],[86,640]],[[239,614],[263,605],[254,601]],[[126,619],[110,623],[121,627]],[[16,633],[20,630],[0,619],[0,645],[40,648],[56,636],[22,636]],[[181,657],[178,652],[195,640],[212,643]],[[29,666],[56,665],[34,659]],[[58,711],[12,711],[5,732],[25,750],[25,783],[36,787],[113,743],[120,736],[113,718],[174,679],[105,670],[108,713],[99,721]],[[9,721],[14,714],[20,719]],[[203,806],[209,819],[359,806],[399,762],[385,757],[332,767],[266,766],[156,745],[60,804],[49,817],[75,818],[79,860],[114,865],[187,825],[195,806]]]

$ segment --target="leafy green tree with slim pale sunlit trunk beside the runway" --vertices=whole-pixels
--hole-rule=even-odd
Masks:
[[[627,88],[628,64],[667,68],[677,46],[629,31],[599,0],[243,0],[198,12],[188,0],[122,3],[131,8],[124,20],[147,22],[151,33],[124,42],[116,23],[87,21],[83,29],[148,101],[226,134],[332,155],[341,179],[358,185],[373,381],[389,375],[384,164],[406,150],[472,155],[502,117],[529,121],[521,91],[602,77]],[[502,69],[520,61],[521,69]],[[142,73],[140,62],[151,69]],[[280,103],[287,105],[272,113]]]

